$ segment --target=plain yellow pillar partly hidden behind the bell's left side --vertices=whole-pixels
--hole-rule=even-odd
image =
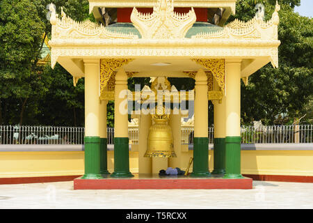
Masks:
[[[141,112],[141,116],[139,118],[139,157],[138,157],[138,166],[139,166],[139,174],[152,174],[152,158],[143,157],[145,155],[145,151],[147,151],[147,137],[149,134],[149,128],[152,124],[151,115],[143,114]]]

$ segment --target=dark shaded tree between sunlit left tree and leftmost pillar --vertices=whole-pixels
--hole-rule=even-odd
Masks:
[[[54,70],[45,67],[45,75],[53,77],[49,92],[38,98],[39,112],[35,119],[42,125],[84,125],[84,79],[73,85],[72,75],[56,64]]]

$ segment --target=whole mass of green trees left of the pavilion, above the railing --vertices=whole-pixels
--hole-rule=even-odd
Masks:
[[[50,2],[0,1],[0,124],[54,124],[54,121],[61,123],[63,120],[66,124],[75,125],[79,122],[77,116],[80,115],[76,114],[81,112],[76,109],[83,109],[80,85],[77,89],[69,87],[61,91],[64,85],[72,84],[72,76],[60,68],[56,68],[59,73],[53,76],[51,74],[55,72],[51,68],[38,66],[45,37],[51,36],[51,24],[47,20],[47,5]],[[95,21],[92,15],[88,15],[87,0],[56,0],[54,3],[58,13],[63,6],[65,13],[74,20]],[[56,76],[63,82],[58,82]],[[63,107],[58,107],[58,113],[69,114],[67,109],[72,109],[72,116],[42,122],[42,115],[47,115],[46,107],[51,105],[48,98],[51,95],[57,96],[54,97],[56,101],[66,102]],[[42,98],[47,100],[46,103],[42,102]]]

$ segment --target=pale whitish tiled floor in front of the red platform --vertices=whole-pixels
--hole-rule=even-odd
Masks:
[[[73,190],[73,181],[0,185],[0,208],[313,208],[313,183],[252,190]]]

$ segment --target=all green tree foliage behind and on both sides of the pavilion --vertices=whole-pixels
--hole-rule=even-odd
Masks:
[[[44,45],[43,36],[51,37],[47,20],[48,0],[0,1],[0,124],[83,125],[84,80],[73,86],[72,76],[60,65],[38,66]],[[270,20],[275,0],[238,0],[235,18],[248,21],[255,16],[255,5],[265,6],[265,20]],[[294,13],[300,0],[280,0],[278,38],[279,68],[264,66],[241,86],[243,124],[262,120],[266,124],[312,123],[312,19]],[[55,0],[74,20],[92,20],[88,0]],[[130,78],[129,89],[143,87],[150,78]],[[194,80],[169,78],[179,90],[194,88]],[[213,105],[209,103],[209,120]],[[113,127],[114,104],[108,104],[108,124]]]

